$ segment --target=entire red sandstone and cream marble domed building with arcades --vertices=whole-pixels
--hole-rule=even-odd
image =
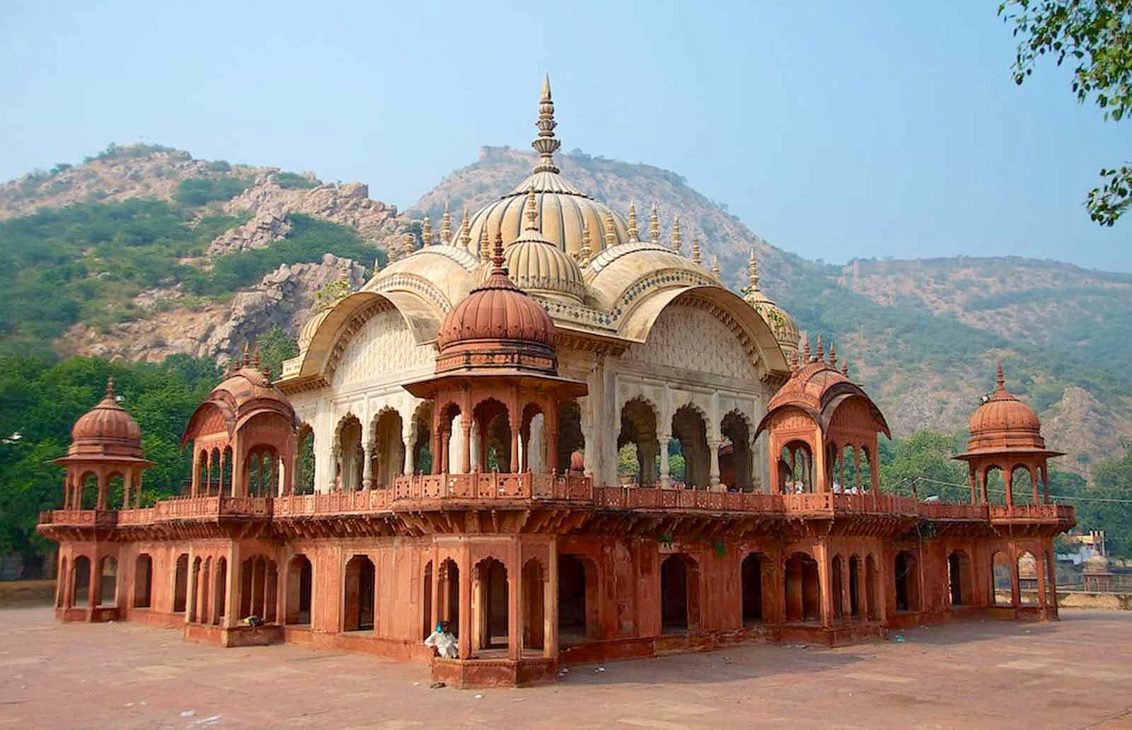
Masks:
[[[251,353],[234,362],[186,427],[182,496],[139,504],[152,462],[108,389],[58,460],[62,508],[40,521],[59,542],[60,620],[368,652],[495,686],[1057,617],[1053,538],[1074,513],[1050,503],[1057,453],[1001,370],[957,457],[969,500],[881,491],[884,415],[760,290],[754,256],[740,297],[698,240],[685,255],[678,217],[662,238],[655,206],[642,230],[633,205],[564,179],[549,83],[537,127],[530,177],[456,226],[446,211],[438,234],[424,218],[420,243],[310,319],[280,379]],[[458,658],[422,643],[440,620]]]

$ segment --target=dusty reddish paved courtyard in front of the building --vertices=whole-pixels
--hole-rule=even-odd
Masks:
[[[0,728],[1132,729],[1125,611],[576,667],[555,686],[483,692],[429,689],[419,664],[223,650],[136,624],[58,624],[45,607],[0,619]]]

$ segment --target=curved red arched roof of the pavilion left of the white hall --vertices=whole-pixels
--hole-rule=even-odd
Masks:
[[[299,422],[291,402],[282,390],[272,385],[267,373],[259,369],[258,351],[255,362],[245,351],[241,367],[221,380],[204,403],[192,412],[192,418],[189,419],[189,424],[181,437],[182,447],[192,440],[198,428],[215,411],[220,412],[229,433],[261,413],[277,413],[295,426]]]

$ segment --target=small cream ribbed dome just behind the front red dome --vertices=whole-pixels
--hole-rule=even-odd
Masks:
[[[581,302],[585,297],[582,269],[573,258],[542,235],[533,190],[528,192],[524,216],[525,227],[503,252],[507,276],[525,292]],[[484,282],[491,276],[491,270],[484,269]]]

